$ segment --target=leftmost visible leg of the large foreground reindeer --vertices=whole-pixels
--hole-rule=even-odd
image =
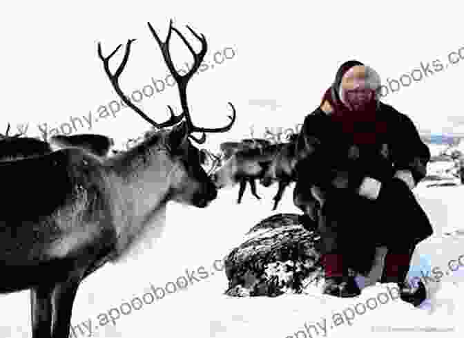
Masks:
[[[52,290],[48,285],[30,290],[32,338],[52,337]]]

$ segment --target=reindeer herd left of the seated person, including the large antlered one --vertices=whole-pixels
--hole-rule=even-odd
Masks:
[[[166,212],[174,201],[207,207],[218,189],[240,184],[238,203],[247,182],[252,194],[256,180],[269,187],[278,182],[276,209],[284,189],[297,178],[295,137],[271,144],[246,139],[221,144],[222,154],[198,149],[206,133],[224,133],[235,122],[235,107],[229,123],[219,128],[195,126],[189,112],[186,88],[207,51],[204,35],[186,26],[201,44],[196,53],[184,35],[169,23],[165,41],[150,23],[164,62],[175,79],[182,113],[155,122],[135,106],[119,86],[135,39],[125,46],[122,62],[110,71],[110,58],[119,45],[104,56],[97,53],[104,73],[122,101],[153,127],[139,144],[126,151],[112,151],[113,139],[104,135],[55,135],[47,142],[26,135],[0,134],[0,180],[4,191],[0,216],[0,293],[30,290],[33,338],[69,336],[72,305],[80,283],[110,261],[117,261],[143,236],[151,220]],[[190,71],[175,70],[169,50],[175,32],[193,55]],[[202,133],[197,138],[193,133]],[[209,172],[205,165],[211,167]],[[12,178],[18,179],[12,179]],[[295,198],[294,198],[295,200]],[[298,203],[297,203],[298,205]],[[305,207],[300,207],[305,211]]]

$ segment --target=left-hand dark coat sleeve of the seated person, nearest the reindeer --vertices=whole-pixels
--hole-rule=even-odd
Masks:
[[[325,122],[323,117],[314,113],[307,115],[303,122],[296,141],[298,181],[305,182],[307,187],[317,185],[325,191],[357,189],[365,172],[359,167],[340,167],[343,148],[334,138],[327,137],[330,133]]]

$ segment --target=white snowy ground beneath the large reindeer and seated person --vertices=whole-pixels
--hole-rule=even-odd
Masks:
[[[124,263],[106,265],[84,281],[72,316],[76,337],[305,338],[347,337],[347,334],[354,333],[386,337],[386,333],[371,332],[374,326],[381,327],[379,330],[408,328],[408,332],[395,332],[396,337],[422,335],[419,328],[452,328],[453,332],[443,332],[434,337],[462,337],[463,324],[458,319],[464,310],[464,274],[458,276],[456,272],[443,276],[439,283],[428,284],[431,299],[421,309],[414,309],[389,296],[380,296],[384,304],[375,305],[372,300],[367,303],[367,299],[386,292],[386,285],[365,288],[357,299],[322,297],[317,290],[273,299],[228,298],[223,295],[227,285],[224,272],[216,272],[207,279],[200,279],[197,274],[200,281],[189,282],[187,288],[166,294],[139,310],[128,306],[120,308],[122,303],[150,292],[151,285],[164,288],[166,283],[186,276],[186,270],[192,272],[204,265],[206,271],[213,271],[214,261],[222,259],[232,247],[241,243],[251,226],[274,214],[271,212],[271,198],[276,187],[258,187],[258,194],[263,197],[260,201],[247,191],[242,205],[235,205],[237,191],[237,188],[220,191],[220,198],[209,209],[169,205],[168,226],[160,238],[142,243],[139,254],[133,254]],[[447,272],[447,262],[464,254],[464,225],[460,217],[464,187],[426,188],[421,185],[416,194],[432,219],[435,234],[416,250],[412,270],[420,275],[419,271],[427,270],[429,265],[429,269],[438,267]],[[297,212],[291,203],[291,189],[285,194],[277,212]],[[459,232],[460,229],[462,232]],[[464,258],[461,261],[464,264]],[[168,290],[171,288],[172,284]],[[146,299],[151,301],[150,297]],[[28,292],[2,295],[0,301],[0,337],[30,337]],[[363,313],[363,307],[358,306],[357,314],[354,306],[358,303],[367,303],[371,309]],[[134,304],[139,306],[137,302]],[[104,318],[98,317],[102,312],[110,312],[117,317],[117,312],[129,310],[129,314],[119,314],[115,326],[108,323],[98,328],[99,319]],[[331,328],[334,324],[331,314],[335,312],[341,314],[343,323]],[[340,317],[337,318],[336,324],[340,323]],[[347,318],[352,318],[351,325]],[[79,332],[77,325],[88,323],[89,319],[93,332],[90,334],[84,324],[80,325],[82,331]],[[316,322],[323,326],[324,319],[327,320],[327,335],[321,328],[318,329],[319,334],[309,328]]]

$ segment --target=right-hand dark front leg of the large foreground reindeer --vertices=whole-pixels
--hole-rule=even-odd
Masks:
[[[66,281],[55,285],[51,299],[52,338],[64,338],[70,335],[72,305],[83,275],[84,271],[72,272]]]

